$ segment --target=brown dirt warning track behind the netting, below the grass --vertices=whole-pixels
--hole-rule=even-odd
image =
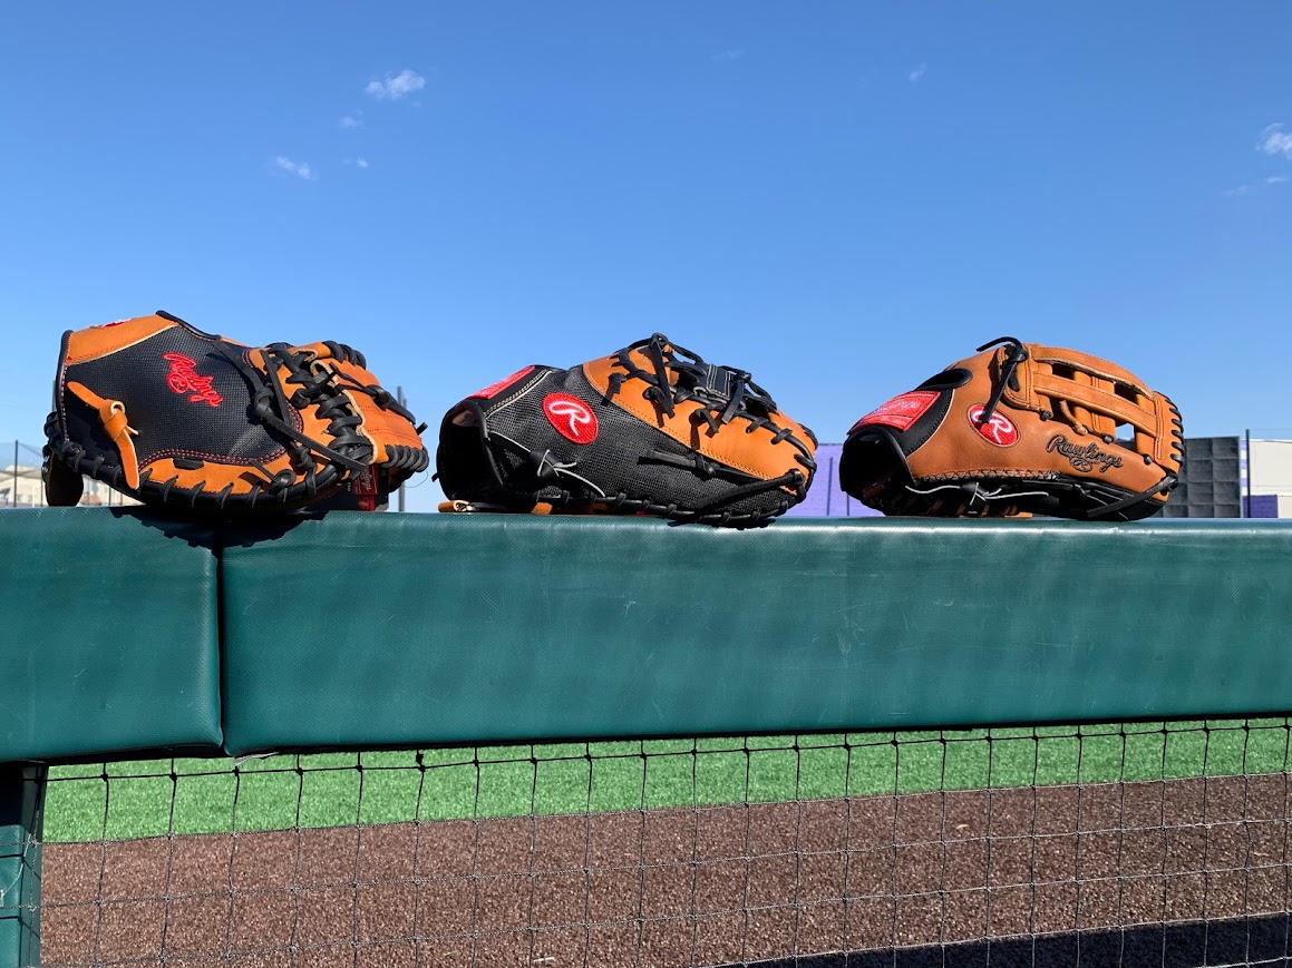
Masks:
[[[1288,791],[1278,773],[48,844],[43,963],[676,968],[1205,927],[1288,911]]]

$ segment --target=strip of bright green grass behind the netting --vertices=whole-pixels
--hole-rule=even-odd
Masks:
[[[1288,769],[1289,720],[561,743],[58,767],[49,842]]]

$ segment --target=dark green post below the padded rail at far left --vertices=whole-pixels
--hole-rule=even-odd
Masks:
[[[40,964],[43,765],[0,763],[0,968]]]

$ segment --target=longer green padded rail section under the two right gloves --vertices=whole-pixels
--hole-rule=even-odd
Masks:
[[[231,752],[1292,709],[1292,523],[337,512],[224,558]]]

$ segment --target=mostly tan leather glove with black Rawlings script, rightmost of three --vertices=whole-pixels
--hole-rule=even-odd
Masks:
[[[1167,502],[1182,458],[1167,396],[1096,356],[1006,337],[862,417],[839,475],[885,514],[1130,521]]]

